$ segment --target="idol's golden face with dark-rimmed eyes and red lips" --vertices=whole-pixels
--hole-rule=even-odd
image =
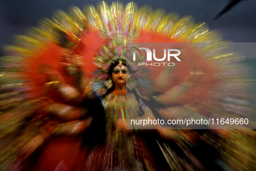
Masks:
[[[112,72],[112,81],[115,86],[125,86],[126,76],[128,75],[128,70],[125,65],[118,64],[114,67]]]

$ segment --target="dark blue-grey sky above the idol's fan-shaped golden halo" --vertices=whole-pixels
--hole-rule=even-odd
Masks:
[[[219,19],[214,17],[232,0],[135,0],[138,6],[148,4],[152,9],[162,8],[167,13],[192,15],[195,22],[206,22],[210,30],[219,30],[223,38],[233,42],[256,42],[256,0],[240,0]],[[237,0],[239,1],[239,0]],[[36,26],[43,17],[51,18],[57,9],[67,11],[70,6],[82,9],[85,4],[97,5],[95,0],[0,0],[0,46],[12,44],[12,35],[26,33],[26,28]],[[106,0],[108,4],[112,0]],[[120,0],[126,4],[129,0]],[[246,52],[256,44],[245,44]],[[246,54],[255,58],[256,53]],[[255,56],[255,57],[254,57]]]

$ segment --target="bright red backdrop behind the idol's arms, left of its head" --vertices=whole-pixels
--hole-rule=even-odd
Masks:
[[[88,78],[91,78],[91,73],[97,69],[93,64],[93,57],[96,56],[99,49],[107,42],[106,39],[100,37],[97,31],[87,31],[81,38],[80,44],[75,49],[74,54],[84,57],[85,65],[84,72]],[[73,80],[66,75],[64,66],[59,61],[59,54],[62,48],[57,44],[50,44],[46,51],[40,50],[30,57],[28,61],[24,61],[29,67],[23,72],[23,76],[28,80],[28,84],[32,88],[32,93],[39,97],[42,95],[42,87],[47,82],[46,75],[42,69],[47,67],[50,70],[60,73],[65,82],[69,85],[73,84]]]

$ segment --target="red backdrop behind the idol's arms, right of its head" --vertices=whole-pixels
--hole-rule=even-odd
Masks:
[[[148,32],[142,32],[139,38],[135,42],[170,42],[175,43],[172,39],[165,38],[159,35],[155,35]],[[184,46],[182,44],[177,43],[177,45],[180,47]],[[173,62],[177,65],[177,68],[173,70],[172,74],[172,82],[170,82],[169,86],[167,86],[165,89],[159,90],[160,92],[165,92],[172,87],[175,87],[176,85],[179,85],[187,76],[190,75],[190,70],[193,70],[194,68],[200,68],[204,73],[208,73],[210,75],[210,80],[208,84],[204,85],[197,85],[194,89],[192,89],[188,94],[182,99],[181,101],[186,104],[190,101],[194,100],[205,100],[207,98],[208,90],[212,86],[212,82],[214,82],[212,78],[213,71],[211,70],[208,63],[206,63],[198,54],[196,54],[193,49],[186,48],[187,52],[186,54],[189,54],[189,57],[187,57],[185,60],[177,61],[173,58]],[[154,62],[154,61],[152,61]],[[156,61],[158,62],[158,61]],[[166,61],[165,61],[166,62]],[[156,77],[159,75],[159,73],[165,68],[165,67],[156,67],[156,66],[146,66],[151,72],[153,79],[156,79]]]

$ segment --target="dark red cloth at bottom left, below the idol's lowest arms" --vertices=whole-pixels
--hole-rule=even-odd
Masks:
[[[87,149],[81,148],[81,138],[52,139],[39,154],[33,171],[80,171]]]

